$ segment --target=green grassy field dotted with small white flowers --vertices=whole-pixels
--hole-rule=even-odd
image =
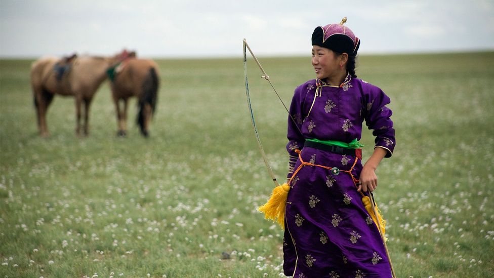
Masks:
[[[309,57],[260,60],[287,105],[313,78]],[[256,212],[273,184],[241,58],[157,62],[145,139],[135,100],[128,137],[116,136],[106,83],[89,137],[74,134],[74,99],[57,96],[40,138],[31,61],[0,61],[1,277],[282,276],[282,231]],[[249,63],[261,140],[283,179],[286,111]],[[492,277],[494,53],[361,56],[357,75],[392,100],[397,147],[376,201],[397,276]]]

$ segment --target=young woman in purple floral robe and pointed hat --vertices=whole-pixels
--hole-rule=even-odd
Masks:
[[[315,28],[316,79],[295,90],[286,148],[284,273],[294,277],[391,277],[381,234],[362,204],[378,186],[376,168],[395,136],[390,99],[356,78],[359,39],[343,23]],[[361,164],[362,123],[376,145]]]

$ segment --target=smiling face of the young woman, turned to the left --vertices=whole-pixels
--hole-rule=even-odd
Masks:
[[[316,77],[323,80],[335,76],[340,71],[340,59],[331,49],[313,46],[312,66]]]

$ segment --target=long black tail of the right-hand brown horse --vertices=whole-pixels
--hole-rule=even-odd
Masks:
[[[146,104],[149,104],[149,106],[151,106],[151,114],[154,114],[154,110],[156,109],[158,86],[158,74],[156,72],[156,69],[154,69],[154,67],[151,67],[149,68],[149,71],[142,84],[142,94],[139,99],[139,113],[137,114],[137,124],[141,128],[141,132],[144,135],[147,135],[144,123],[144,107]]]

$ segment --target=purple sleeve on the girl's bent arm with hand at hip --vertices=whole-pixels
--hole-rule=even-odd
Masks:
[[[365,124],[370,130],[373,130],[372,134],[376,137],[374,148],[386,149],[385,157],[390,157],[396,145],[393,121],[390,118],[393,112],[386,107],[391,100],[381,89],[375,86],[370,87],[370,90],[364,94],[364,98]]]

